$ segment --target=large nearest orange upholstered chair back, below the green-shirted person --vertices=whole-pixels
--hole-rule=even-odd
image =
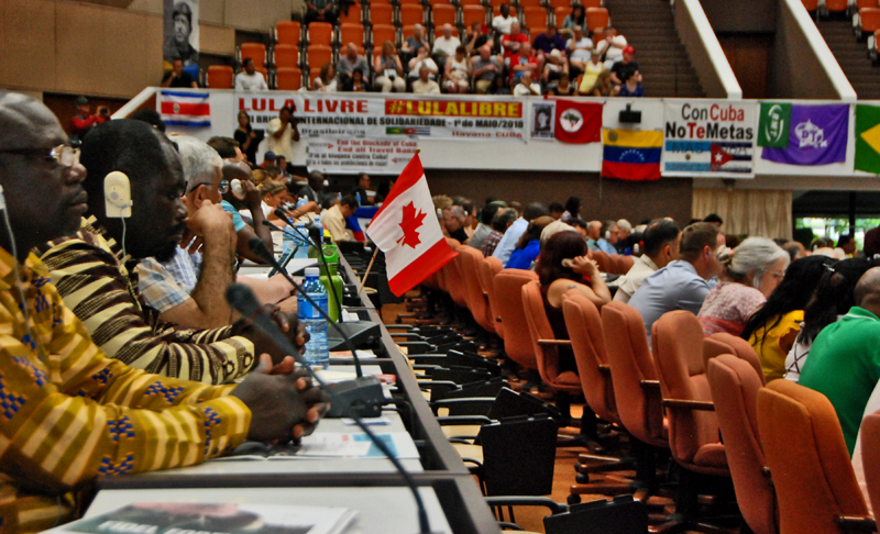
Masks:
[[[758,432],[779,503],[780,534],[877,527],[825,396],[791,380],[771,381],[758,391]]]

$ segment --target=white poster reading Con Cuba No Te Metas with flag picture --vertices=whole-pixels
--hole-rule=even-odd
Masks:
[[[667,100],[663,176],[754,178],[757,103]]]

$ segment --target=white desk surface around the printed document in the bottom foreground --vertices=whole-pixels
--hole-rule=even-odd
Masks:
[[[451,533],[436,492],[420,488],[432,532]],[[86,518],[134,502],[229,502],[343,507],[356,510],[348,533],[415,534],[419,531],[416,502],[407,488],[204,488],[161,490],[105,490],[98,493]]]

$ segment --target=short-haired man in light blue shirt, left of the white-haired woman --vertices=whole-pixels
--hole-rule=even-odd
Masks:
[[[629,299],[645,321],[648,342],[651,326],[660,316],[674,310],[700,312],[710,291],[708,279],[721,272],[718,229],[710,223],[694,223],[684,229],[679,257],[657,272],[649,275]]]

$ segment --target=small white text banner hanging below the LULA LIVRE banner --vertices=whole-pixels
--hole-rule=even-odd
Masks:
[[[309,171],[352,174],[400,174],[418,151],[416,140],[309,140],[306,167]]]

